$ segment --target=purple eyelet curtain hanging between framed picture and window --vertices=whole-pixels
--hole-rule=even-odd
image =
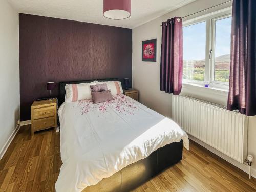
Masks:
[[[174,17],[162,23],[160,90],[179,95],[182,87],[182,19]]]

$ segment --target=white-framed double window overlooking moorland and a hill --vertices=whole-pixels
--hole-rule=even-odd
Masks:
[[[183,22],[183,81],[228,89],[231,9]]]

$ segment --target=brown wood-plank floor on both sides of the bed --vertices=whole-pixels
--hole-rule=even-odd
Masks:
[[[31,137],[30,125],[21,127],[0,161],[0,191],[55,191],[59,142],[54,130]],[[180,163],[134,191],[256,191],[256,179],[190,142]]]

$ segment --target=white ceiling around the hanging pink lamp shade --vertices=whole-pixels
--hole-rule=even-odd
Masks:
[[[103,0],[8,0],[19,13],[135,28],[195,0],[132,0],[131,17],[111,20],[102,14]]]

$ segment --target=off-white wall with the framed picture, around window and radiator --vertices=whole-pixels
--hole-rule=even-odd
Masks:
[[[170,117],[170,106],[172,105],[170,95],[160,91],[160,54],[161,54],[161,27],[162,22],[174,16],[186,16],[196,13],[200,10],[210,8],[215,5],[226,2],[226,0],[197,0],[177,10],[169,12],[161,17],[158,17],[151,22],[143,24],[133,29],[133,87],[139,90],[140,102],[153,110]],[[231,6],[231,2],[221,6],[211,8],[208,11],[198,13],[187,17],[191,19],[195,16],[204,15],[214,12],[219,9]],[[157,38],[157,62],[142,62],[141,61],[141,41]],[[187,95],[209,102],[225,105],[227,104],[228,92],[207,89],[203,87],[184,85],[182,95]],[[248,133],[248,153],[256,158],[256,118],[249,118],[249,133]],[[256,162],[253,163],[256,169]]]

